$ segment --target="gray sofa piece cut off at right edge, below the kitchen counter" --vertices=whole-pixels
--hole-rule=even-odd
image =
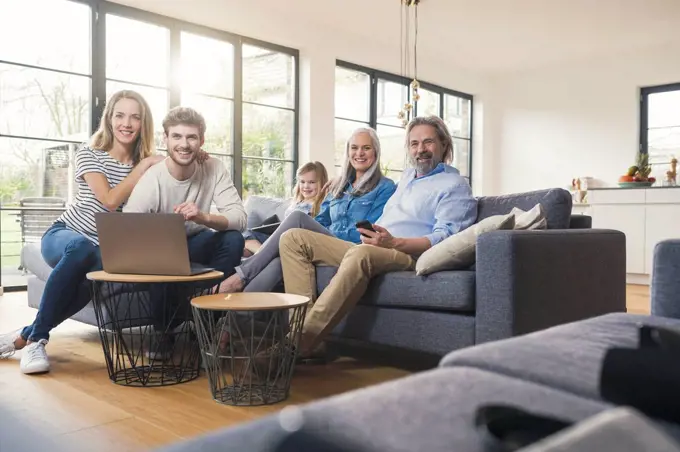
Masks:
[[[663,240],[654,247],[652,315],[680,319],[680,240]]]

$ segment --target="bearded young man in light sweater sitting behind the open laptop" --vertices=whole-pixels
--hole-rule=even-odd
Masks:
[[[219,270],[226,278],[241,263],[245,245],[242,231],[247,217],[224,163],[215,158],[200,164],[197,161],[205,128],[203,116],[195,110],[185,107],[170,110],[163,119],[168,158],[147,170],[123,211],[182,215],[189,260]],[[216,213],[210,212],[213,204]],[[173,287],[166,293],[176,300],[185,299],[188,294],[181,294],[184,291],[179,289]],[[158,310],[154,315],[157,328],[176,326],[189,310],[187,303],[185,315],[172,315],[173,319],[167,320],[169,310],[176,308],[174,300],[163,303],[162,293],[152,293],[152,303],[154,310]]]

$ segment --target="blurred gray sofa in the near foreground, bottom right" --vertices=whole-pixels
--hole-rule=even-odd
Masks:
[[[611,347],[636,348],[638,324],[674,319],[607,314],[454,351],[438,368],[287,408],[163,452],[680,451],[680,427],[601,397]],[[295,391],[295,380],[292,390]],[[489,405],[567,424],[542,442],[506,448],[478,422]]]

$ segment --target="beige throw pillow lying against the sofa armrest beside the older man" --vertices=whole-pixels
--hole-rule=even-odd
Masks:
[[[515,215],[512,213],[485,218],[425,251],[416,262],[416,274],[424,276],[442,270],[468,268],[475,263],[477,237],[514,226]]]

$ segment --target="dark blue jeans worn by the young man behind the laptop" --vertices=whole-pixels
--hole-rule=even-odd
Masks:
[[[227,278],[234,274],[234,268],[241,263],[245,239],[239,231],[206,230],[188,237],[187,244],[191,262],[212,267]],[[151,284],[149,293],[154,328],[163,331],[191,318],[189,298],[197,290],[215,285],[217,282],[214,280],[190,284]]]

